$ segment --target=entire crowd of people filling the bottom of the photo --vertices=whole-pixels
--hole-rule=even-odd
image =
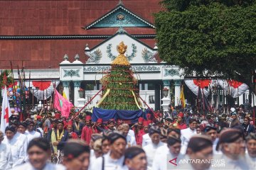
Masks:
[[[90,113],[12,115],[0,131],[0,169],[255,169],[252,114],[148,113],[137,123]]]

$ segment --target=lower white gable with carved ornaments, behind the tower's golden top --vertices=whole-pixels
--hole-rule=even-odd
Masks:
[[[86,64],[111,64],[118,56],[117,43],[120,40],[124,40],[127,44],[127,52],[124,56],[131,64],[157,63],[157,49],[149,47],[149,45],[129,35],[123,28],[119,28],[117,33],[92,47],[92,49],[86,45],[85,55],[88,57]]]

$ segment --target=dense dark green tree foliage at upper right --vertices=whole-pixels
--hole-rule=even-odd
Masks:
[[[164,0],[155,14],[159,55],[186,75],[217,75],[252,88],[256,69],[253,0]]]

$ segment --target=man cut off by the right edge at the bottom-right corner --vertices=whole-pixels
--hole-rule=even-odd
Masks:
[[[256,133],[250,133],[246,137],[247,154],[245,154],[245,160],[250,166],[250,169],[256,167]]]

